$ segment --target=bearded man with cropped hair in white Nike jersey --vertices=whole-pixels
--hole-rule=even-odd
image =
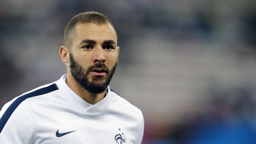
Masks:
[[[73,17],[59,52],[67,74],[4,105],[0,143],[141,143],[142,112],[108,86],[119,51],[105,15]]]

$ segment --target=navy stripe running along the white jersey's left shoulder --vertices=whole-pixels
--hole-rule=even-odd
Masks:
[[[30,92],[28,94],[24,94],[21,97],[18,97],[5,111],[2,118],[0,119],[0,133],[2,132],[2,129],[4,129],[5,124],[9,120],[9,117],[11,117],[11,114],[14,112],[14,110],[20,105],[24,100],[31,97],[36,97],[38,95],[47,94],[52,91],[56,91],[59,89],[56,84],[49,85],[48,87],[37,89],[36,91]]]

